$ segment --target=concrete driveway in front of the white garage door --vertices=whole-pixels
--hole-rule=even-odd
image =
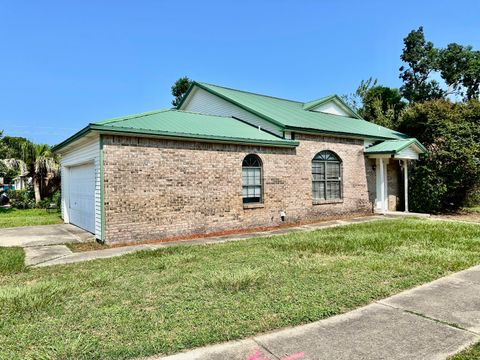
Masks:
[[[91,240],[93,235],[70,224],[22,226],[0,231],[0,247],[47,246]]]

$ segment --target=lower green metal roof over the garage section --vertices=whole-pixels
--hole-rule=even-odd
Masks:
[[[294,147],[286,140],[234,118],[204,115],[180,110],[157,110],[89,124],[64,142],[58,151],[90,131],[125,135],[152,135],[175,139],[203,139],[215,142]]]

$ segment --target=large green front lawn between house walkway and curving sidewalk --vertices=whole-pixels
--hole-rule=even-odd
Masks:
[[[382,220],[0,276],[0,358],[124,359],[307,323],[480,264],[480,227]]]

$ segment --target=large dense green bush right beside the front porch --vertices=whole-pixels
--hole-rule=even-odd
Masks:
[[[399,130],[426,145],[410,172],[413,210],[458,209],[480,184],[480,103],[434,100],[403,113]]]

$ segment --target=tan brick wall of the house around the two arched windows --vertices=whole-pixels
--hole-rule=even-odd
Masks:
[[[122,136],[104,137],[105,239],[131,242],[372,212],[375,173],[363,141],[296,134],[283,149]],[[312,203],[311,160],[343,161],[343,201]],[[242,160],[263,162],[264,204],[244,209]],[[373,182],[373,188],[372,188]],[[374,198],[374,195],[373,195]]]

